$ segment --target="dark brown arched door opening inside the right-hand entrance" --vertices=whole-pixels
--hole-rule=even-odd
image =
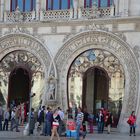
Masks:
[[[99,67],[89,68],[83,76],[82,107],[97,114],[98,109],[108,109],[109,76]]]

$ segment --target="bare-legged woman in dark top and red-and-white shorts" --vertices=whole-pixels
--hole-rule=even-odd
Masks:
[[[60,140],[59,134],[57,132],[60,120],[61,120],[61,118],[58,114],[58,110],[56,109],[53,113],[52,134],[51,134],[51,139],[50,140],[53,140],[54,135],[56,135],[58,140]]]

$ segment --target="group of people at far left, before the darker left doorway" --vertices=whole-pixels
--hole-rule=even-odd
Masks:
[[[10,127],[9,121],[11,121]],[[10,128],[11,131],[16,129],[16,132],[20,132],[18,127],[19,125],[23,126],[25,121],[27,121],[25,103],[18,104],[17,106],[11,104],[11,107],[7,108],[6,110],[3,110],[2,105],[0,103],[0,131],[8,131],[8,128]]]

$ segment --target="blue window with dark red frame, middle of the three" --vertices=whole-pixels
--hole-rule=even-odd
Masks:
[[[46,10],[70,9],[73,0],[46,0]]]

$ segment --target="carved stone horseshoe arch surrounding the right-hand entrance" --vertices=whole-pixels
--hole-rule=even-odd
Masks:
[[[58,92],[61,95],[62,106],[67,109],[67,73],[73,60],[89,49],[103,49],[116,56],[125,73],[125,95],[119,125],[125,131],[126,119],[138,103],[139,69],[137,60],[130,46],[118,36],[105,31],[87,31],[68,40],[55,57],[58,69]],[[136,110],[137,111],[137,110]]]

